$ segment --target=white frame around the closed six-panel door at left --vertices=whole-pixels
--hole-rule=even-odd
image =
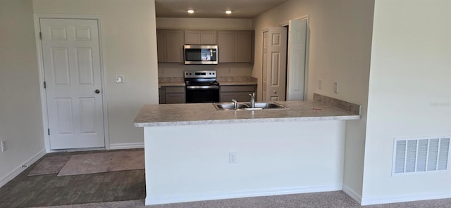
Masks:
[[[37,51],[37,63],[39,67],[39,91],[41,93],[41,106],[42,106],[42,127],[44,132],[44,143],[45,150],[47,152],[57,152],[56,150],[51,150],[50,148],[50,137],[48,134],[49,129],[49,117],[47,112],[47,98],[44,89],[44,63],[42,60],[42,44],[39,37],[40,31],[40,18],[54,18],[54,19],[89,19],[97,20],[97,27],[99,28],[99,51],[100,51],[100,74],[101,74],[101,97],[103,101],[102,112],[104,114],[104,136],[105,136],[105,148],[94,148],[94,149],[110,149],[110,139],[109,139],[109,129],[108,129],[108,108],[106,106],[106,84],[105,84],[105,67],[104,67],[104,56],[102,50],[102,40],[101,40],[101,16],[100,15],[71,15],[71,14],[46,14],[46,13],[35,13],[35,40],[36,40],[36,51]],[[86,149],[85,149],[86,150]],[[89,148],[92,150],[92,148]]]

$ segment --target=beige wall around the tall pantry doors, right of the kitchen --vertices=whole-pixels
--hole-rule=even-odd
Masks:
[[[253,77],[261,82],[262,31],[309,15],[307,99],[319,93],[362,106],[362,119],[347,122],[345,146],[344,190],[357,196],[362,194],[373,6],[374,1],[361,0],[290,0],[254,19]]]

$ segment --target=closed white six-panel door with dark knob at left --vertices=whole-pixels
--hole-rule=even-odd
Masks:
[[[97,20],[39,19],[50,148],[105,146]]]

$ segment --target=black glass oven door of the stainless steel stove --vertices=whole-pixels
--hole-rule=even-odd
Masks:
[[[186,86],[186,103],[218,103],[219,86]]]

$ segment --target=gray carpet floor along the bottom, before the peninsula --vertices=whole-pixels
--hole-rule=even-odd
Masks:
[[[105,202],[92,204],[74,204],[51,208],[125,208],[125,207],[150,207],[150,208],[360,208],[354,200],[342,191],[323,193],[304,193],[297,195],[278,195],[268,197],[246,197],[230,200],[211,200],[201,202],[185,202],[177,204],[161,204],[144,206],[144,200],[130,200],[124,202]],[[418,202],[404,202],[393,204],[378,204],[365,206],[364,208],[450,208],[451,199],[426,200]],[[35,207],[37,208],[37,207]],[[39,207],[41,208],[41,207]]]

